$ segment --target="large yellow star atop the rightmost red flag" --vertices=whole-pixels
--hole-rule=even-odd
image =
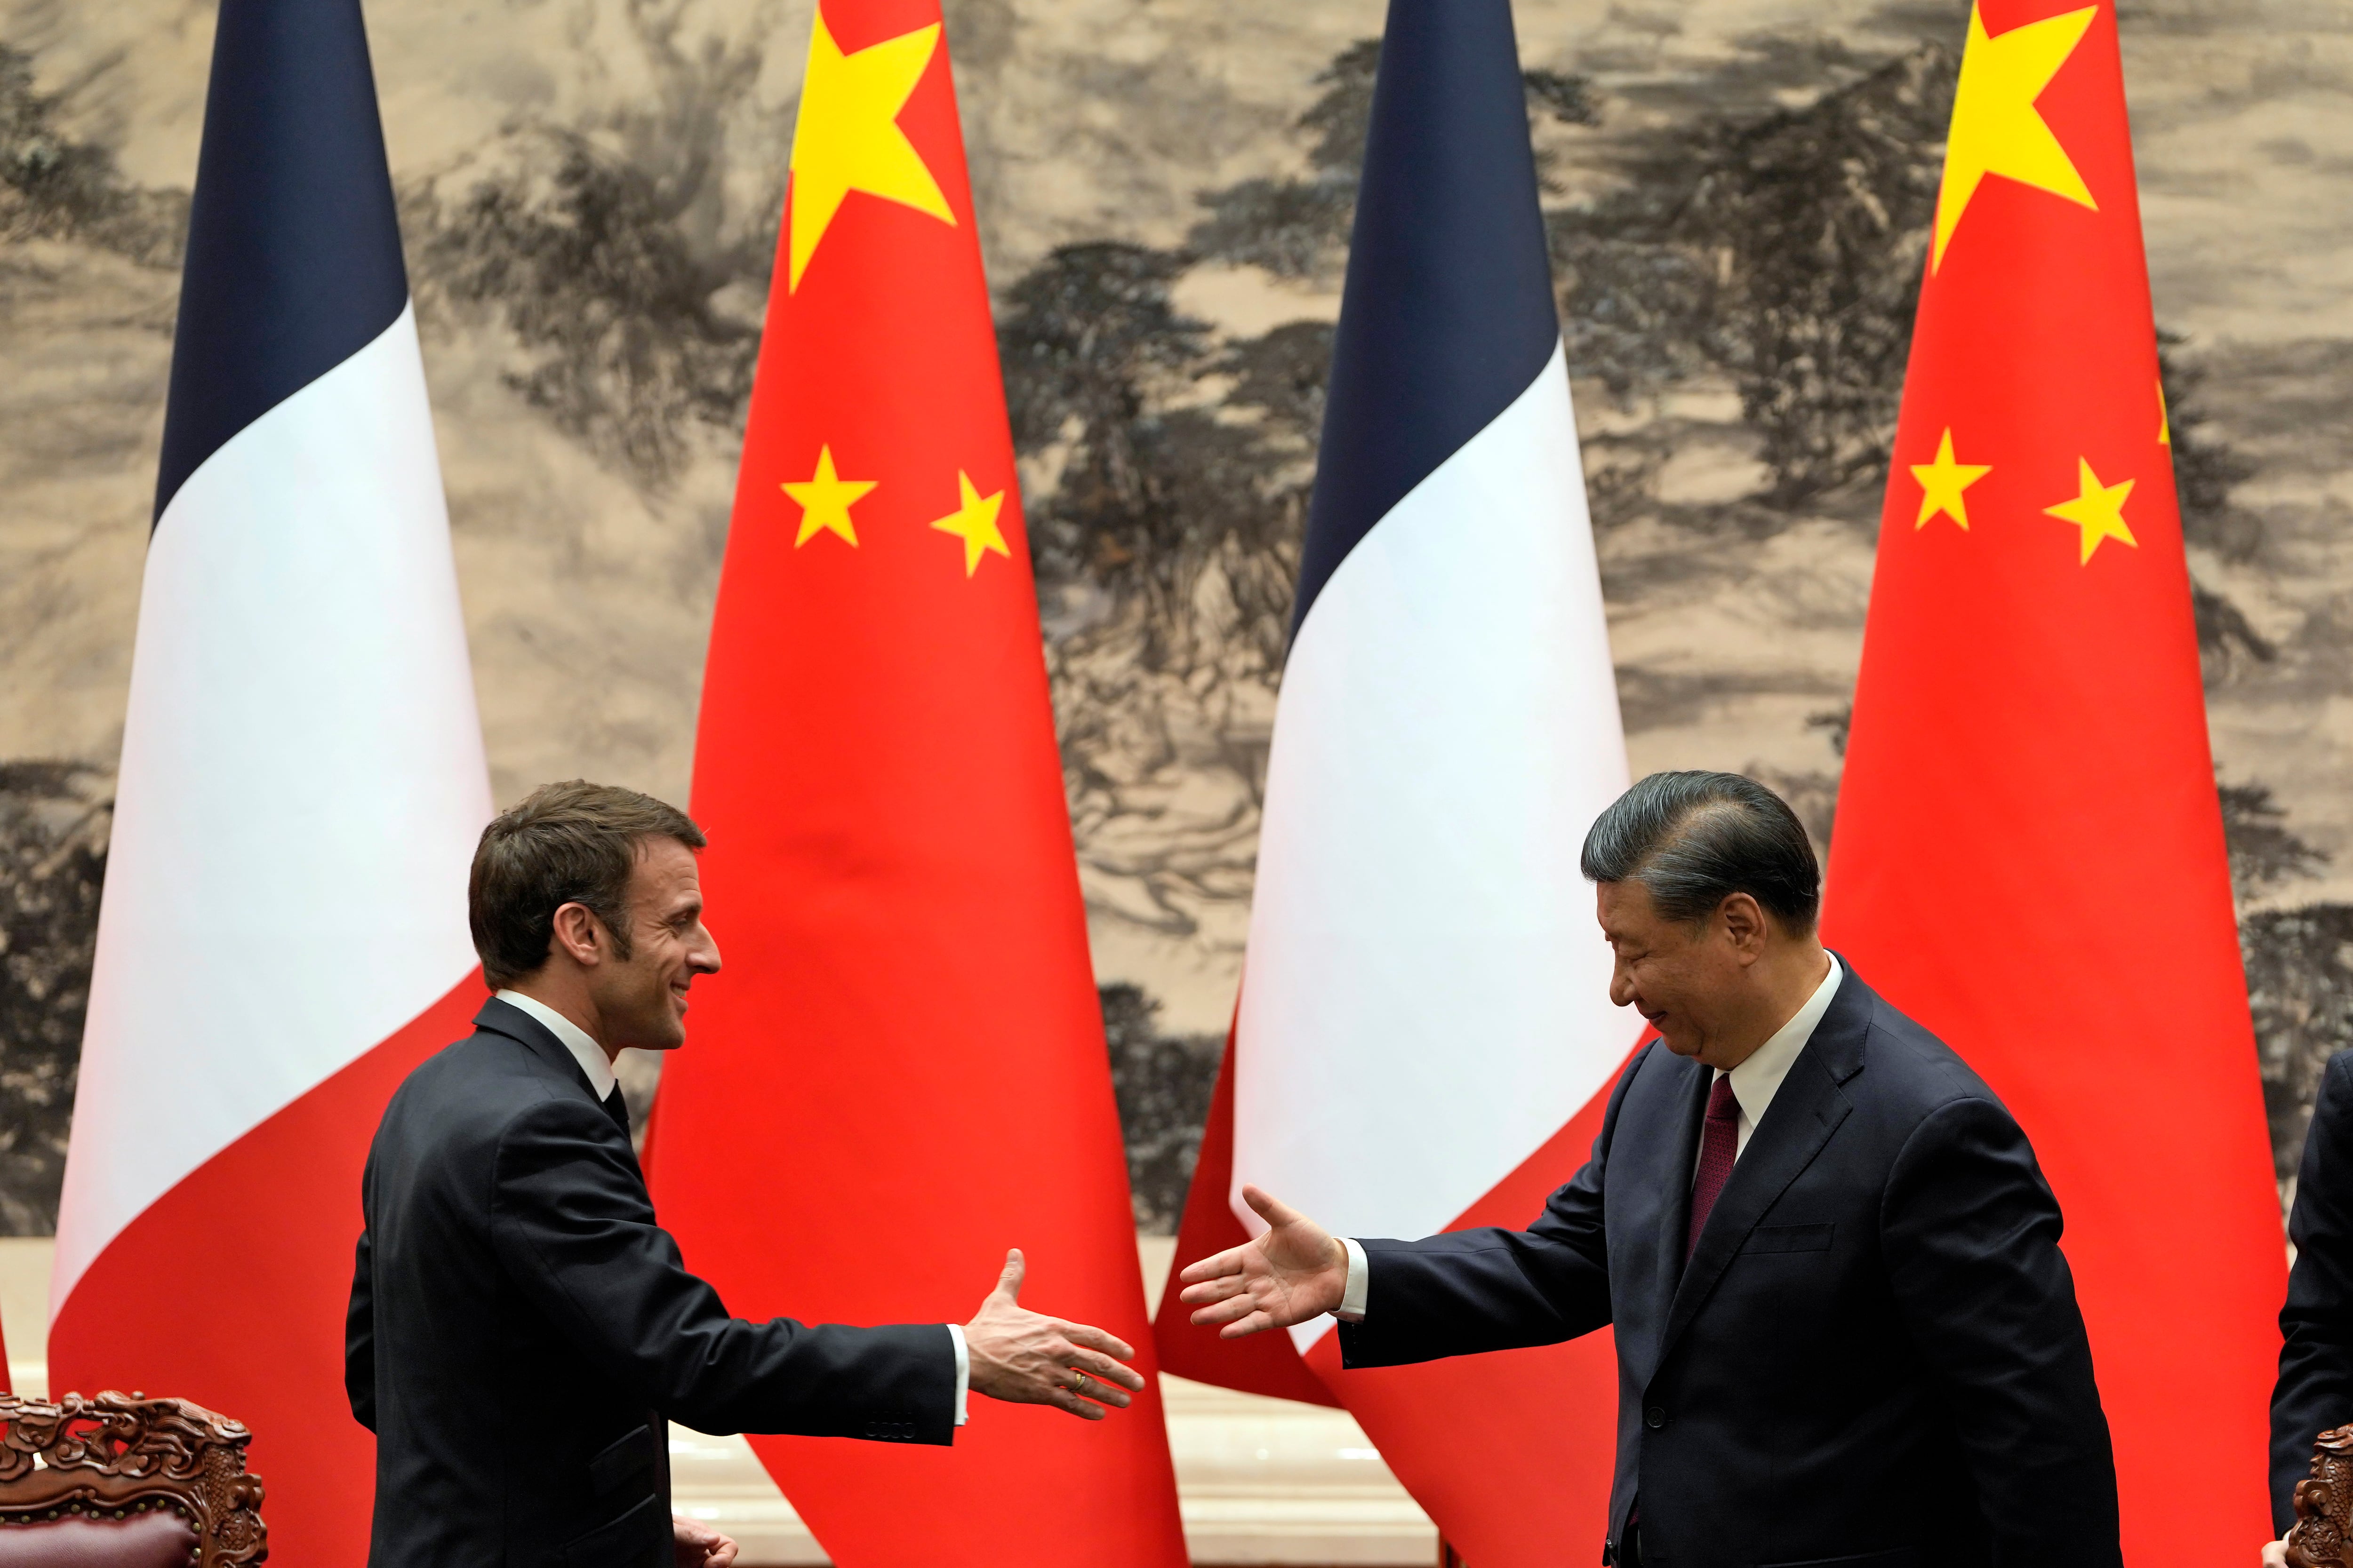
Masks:
[[[1984,16],[1969,7],[1969,45],[1960,54],[1953,132],[1944,143],[1944,183],[1937,188],[1937,247],[1929,254],[1929,273],[1944,266],[1944,247],[1953,242],[1960,214],[1969,209],[1969,197],[1988,174],[2099,212],[2066,148],[2035,113],[2035,99],[2082,42],[2097,12],[2097,5],[2087,5],[1988,38]]]

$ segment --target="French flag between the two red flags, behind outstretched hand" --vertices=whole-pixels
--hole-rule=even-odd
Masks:
[[[1393,0],[1179,1262],[1264,1227],[1242,1182],[1337,1234],[1541,1211],[1640,1030],[1577,865],[1624,788],[1511,5]],[[1165,1371],[1344,1403],[1478,1568],[1600,1547],[1607,1335],[1344,1373],[1332,1319],[1221,1342],[1174,1293]]]

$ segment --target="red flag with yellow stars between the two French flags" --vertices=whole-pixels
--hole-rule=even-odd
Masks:
[[[694,752],[708,924],[654,1199],[739,1316],[1021,1302],[1151,1373],[936,0],[824,0]],[[946,1338],[946,1335],[944,1335]],[[1179,1568],[1158,1389],[953,1448],[753,1436],[845,1568]]]

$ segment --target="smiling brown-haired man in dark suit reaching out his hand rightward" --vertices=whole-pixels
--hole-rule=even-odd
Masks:
[[[668,1512],[666,1422],[948,1443],[967,1389],[1101,1420],[1144,1380],[1113,1335],[1024,1309],[751,1324],[654,1220],[612,1060],[685,1044],[720,969],[675,806],[593,783],[482,830],[468,917],[496,994],[407,1077],[367,1154],[346,1335],[376,1434],[369,1563],[725,1568]]]

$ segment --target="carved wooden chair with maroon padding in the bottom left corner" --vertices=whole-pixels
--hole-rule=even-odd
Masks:
[[[0,1394],[0,1568],[247,1568],[252,1432],[186,1399]]]

